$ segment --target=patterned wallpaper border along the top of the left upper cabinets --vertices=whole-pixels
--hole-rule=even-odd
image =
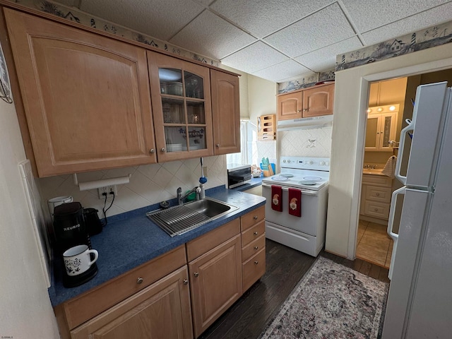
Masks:
[[[123,37],[128,40],[133,40],[135,42],[141,42],[142,44],[147,44],[149,46],[162,49],[166,52],[172,54],[177,54],[181,57],[186,57],[192,60],[201,61],[204,64],[210,64],[211,66],[219,67],[221,62],[214,59],[209,59],[203,57],[199,54],[194,54],[192,52],[181,49],[180,47],[168,44],[162,40],[157,40],[150,35],[145,35],[141,32],[136,32],[129,28],[125,28],[121,25],[117,25],[110,21],[98,18],[97,16],[92,16],[89,13],[78,10],[74,7],[66,7],[62,4],[56,4],[52,1],[47,0],[9,0],[14,4],[19,4],[28,8],[32,8],[44,13],[49,13],[54,16],[59,16],[68,21],[73,21],[80,23],[89,28],[95,28],[96,30],[101,30],[103,32],[108,32],[119,37]]]

